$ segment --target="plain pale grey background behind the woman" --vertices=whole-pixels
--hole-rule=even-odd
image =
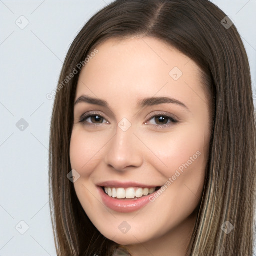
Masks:
[[[0,256],[56,255],[48,202],[53,99],[46,94],[57,86],[78,31],[111,1],[0,0]],[[234,21],[242,37],[255,93],[256,0],[212,2]],[[26,19],[29,24],[21,29]],[[23,131],[16,126],[21,118],[28,123]]]

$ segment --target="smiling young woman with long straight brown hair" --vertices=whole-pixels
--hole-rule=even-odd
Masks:
[[[252,256],[247,55],[207,0],[116,0],[81,29],[50,130],[64,255]]]

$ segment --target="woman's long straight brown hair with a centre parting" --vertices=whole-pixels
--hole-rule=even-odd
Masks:
[[[158,38],[193,59],[212,104],[210,154],[187,255],[252,256],[255,113],[248,58],[230,22],[208,0],[116,0],[78,33],[63,63],[50,126],[49,198],[58,256],[111,255],[117,245],[91,223],[67,174],[77,64],[99,43],[131,36]],[[226,221],[234,227],[229,233],[223,231]]]

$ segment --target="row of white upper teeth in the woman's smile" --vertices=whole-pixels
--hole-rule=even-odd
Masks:
[[[153,192],[155,192],[156,187],[154,188],[134,188],[134,187],[129,187],[129,188],[122,188],[122,187],[104,187],[105,193],[108,194],[110,197],[113,198],[118,198],[118,199],[132,199],[132,198],[139,198],[142,197],[143,195],[148,195]]]

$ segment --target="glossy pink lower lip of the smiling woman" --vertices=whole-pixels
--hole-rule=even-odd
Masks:
[[[110,197],[107,195],[101,187],[98,187],[100,196],[103,200],[103,203],[110,209],[118,212],[133,212],[143,208],[147,203],[150,202],[149,197],[153,195],[148,194],[146,196],[142,196],[138,199],[133,200],[122,200]]]

